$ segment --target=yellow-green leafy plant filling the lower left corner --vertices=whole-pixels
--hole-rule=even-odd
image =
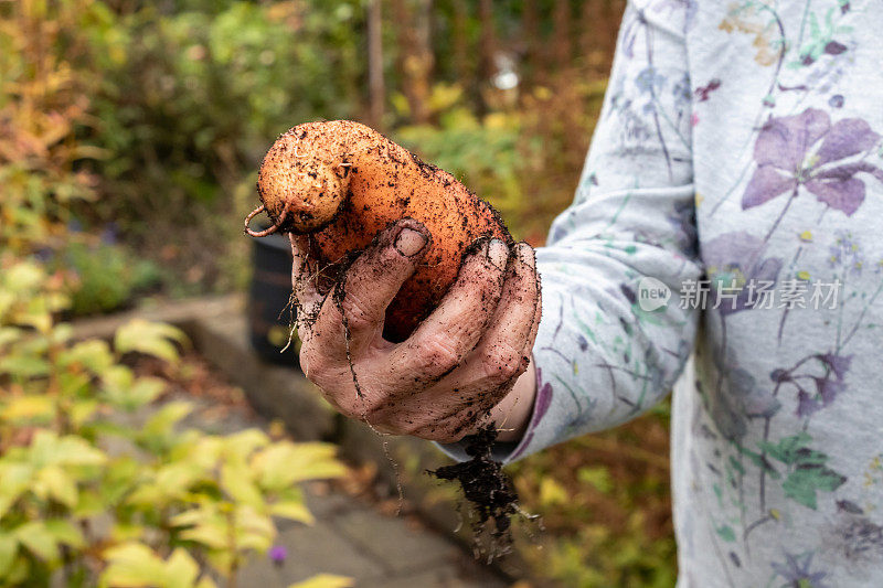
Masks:
[[[0,260],[0,586],[213,586],[272,546],[274,517],[312,521],[297,484],[343,473],[333,446],[183,430],[191,405],[156,405],[163,381],[123,362],[175,362],[183,333],[135,320],[74,342],[61,287]]]

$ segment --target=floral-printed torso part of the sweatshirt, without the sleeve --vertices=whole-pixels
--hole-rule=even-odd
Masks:
[[[883,2],[688,4],[711,293],[682,581],[883,586]]]

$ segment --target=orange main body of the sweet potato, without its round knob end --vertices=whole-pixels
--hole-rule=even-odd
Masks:
[[[345,263],[379,231],[405,217],[429,231],[429,249],[386,311],[384,334],[391,340],[404,340],[435,309],[477,239],[497,237],[512,245],[512,237],[490,204],[448,172],[424,163],[369,127],[347,120],[308,122],[286,136],[289,143],[294,138],[305,165],[310,165],[306,160],[312,146],[321,145],[328,164],[342,167],[339,171],[349,182],[345,199],[330,223],[309,233],[310,255],[320,266]],[[286,152],[292,157],[290,145]],[[270,149],[262,174],[270,172],[264,167],[274,157],[283,153],[274,154]],[[259,192],[273,217],[272,204],[277,203],[263,199],[260,188]],[[299,232],[285,223],[281,228]]]

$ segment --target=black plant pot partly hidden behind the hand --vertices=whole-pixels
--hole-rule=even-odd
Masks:
[[[248,323],[252,346],[262,359],[290,367],[300,366],[300,342],[288,335],[295,323],[291,296],[291,245],[278,234],[253,239],[253,274],[248,288]]]

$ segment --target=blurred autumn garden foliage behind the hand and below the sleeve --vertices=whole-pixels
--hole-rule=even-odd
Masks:
[[[319,118],[382,129],[541,245],[624,4],[0,0],[0,256],[42,263],[70,317],[242,289],[260,158]],[[663,411],[515,467],[538,577],[672,584],[667,442]]]

